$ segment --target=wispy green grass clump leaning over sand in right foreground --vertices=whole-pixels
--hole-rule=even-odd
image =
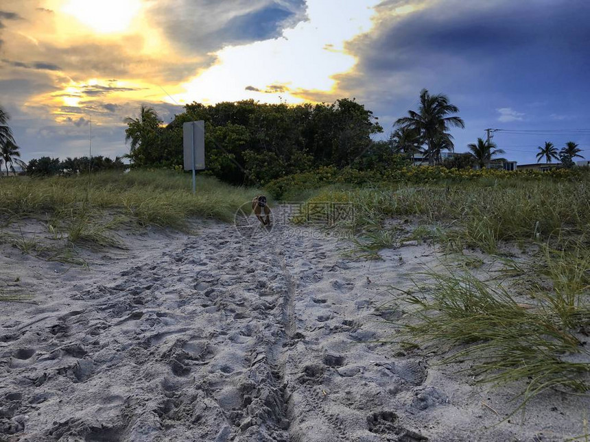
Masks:
[[[547,389],[590,389],[590,350],[579,334],[587,326],[587,300],[563,315],[561,302],[550,295],[521,304],[502,286],[471,273],[429,276],[429,291],[401,297],[414,306],[399,327],[402,339],[439,349],[446,345],[451,356],[441,363],[467,363],[466,370],[481,382],[525,382],[523,405]]]

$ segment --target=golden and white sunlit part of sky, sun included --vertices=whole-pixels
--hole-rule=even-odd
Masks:
[[[14,38],[4,38],[3,49],[7,59],[24,58],[12,66],[11,75],[32,73],[30,66],[38,66],[51,85],[31,90],[23,100],[30,110],[43,110],[43,118],[62,127],[90,117],[98,125],[123,127],[124,117],[142,103],[172,106],[172,111],[192,101],[336,99],[338,75],[351,73],[358,62],[347,45],[375,27],[380,3],[307,0],[298,20],[272,37],[229,45],[224,32],[244,31],[228,25],[235,11],[217,3],[216,10],[202,16],[194,3],[180,0],[184,6],[176,10],[176,3],[154,0],[45,0],[29,9],[15,1],[31,19],[11,23]],[[246,17],[260,8],[239,1],[233,5]],[[412,11],[398,5],[395,13]],[[180,15],[168,18],[169,12]],[[252,25],[259,26],[244,29],[252,32]],[[220,45],[207,51],[215,38]],[[75,127],[83,128],[82,123]]]

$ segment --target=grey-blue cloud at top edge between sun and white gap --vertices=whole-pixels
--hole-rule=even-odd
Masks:
[[[208,53],[281,35],[305,19],[304,0],[169,0],[152,10],[154,21],[189,53]]]

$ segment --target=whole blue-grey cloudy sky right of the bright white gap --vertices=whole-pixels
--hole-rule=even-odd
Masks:
[[[347,45],[357,66],[334,76],[340,95],[386,117],[380,120],[386,131],[416,108],[421,88],[445,93],[459,106],[467,128],[453,131],[458,151],[484,136],[485,127],[574,128],[590,119],[590,2],[444,0],[405,16],[392,13],[403,4],[379,5],[384,14],[375,29]],[[335,98],[316,91],[303,96]],[[566,114],[577,115],[578,126],[551,117]],[[534,161],[527,149],[542,144],[502,134],[495,140],[500,147],[523,145],[522,152],[505,150],[525,162]]]

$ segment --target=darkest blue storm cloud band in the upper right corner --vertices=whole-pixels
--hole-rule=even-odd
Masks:
[[[589,18],[585,1],[495,1],[484,8],[445,1],[382,29],[375,45],[365,48],[364,64],[391,72],[447,57],[481,64],[523,51],[590,56]]]

